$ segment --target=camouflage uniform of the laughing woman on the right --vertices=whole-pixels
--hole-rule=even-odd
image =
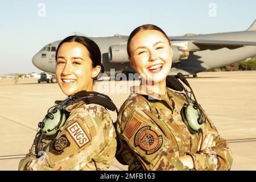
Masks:
[[[228,170],[233,159],[226,140],[203,110],[204,135],[210,133],[216,146],[197,151],[201,133],[189,133],[181,119],[184,94],[167,88],[166,95],[147,94],[142,86],[122,105],[118,114],[121,148],[116,158],[129,170],[189,170],[179,156],[191,155],[193,170]]]

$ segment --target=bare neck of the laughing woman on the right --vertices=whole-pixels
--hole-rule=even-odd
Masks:
[[[159,94],[159,95],[166,94],[166,79],[160,82],[142,81],[141,85],[146,86],[147,89],[151,90],[156,94]]]

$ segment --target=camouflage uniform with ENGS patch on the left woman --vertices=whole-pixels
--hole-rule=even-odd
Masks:
[[[20,161],[19,170],[107,170],[110,167],[117,142],[108,110],[82,101],[66,110],[70,115],[57,137],[52,140],[44,137],[40,142],[43,155],[36,158],[34,141],[26,158]]]

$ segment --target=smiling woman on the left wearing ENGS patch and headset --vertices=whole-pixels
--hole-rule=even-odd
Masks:
[[[40,130],[30,152],[20,161],[19,170],[110,167],[117,146],[115,129],[105,108],[108,106],[98,101],[113,102],[108,96],[93,92],[93,80],[101,72],[104,67],[100,48],[92,40],[69,36],[60,42],[56,50],[56,77],[68,98],[56,102],[39,123]],[[99,94],[101,97],[97,97]]]

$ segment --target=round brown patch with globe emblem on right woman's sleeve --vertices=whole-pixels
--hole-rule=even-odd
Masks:
[[[144,126],[136,133],[134,142],[135,146],[146,151],[146,154],[153,154],[162,146],[163,137],[151,130],[150,126]]]

